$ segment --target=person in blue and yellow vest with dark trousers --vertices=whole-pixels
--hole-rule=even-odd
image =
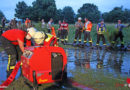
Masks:
[[[104,24],[104,20],[102,19],[100,23],[97,24],[97,44],[99,46],[100,39],[102,38],[103,45],[106,46],[106,40],[104,36],[104,32],[106,31],[106,25]]]

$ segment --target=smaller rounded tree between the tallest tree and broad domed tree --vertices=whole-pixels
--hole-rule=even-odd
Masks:
[[[67,23],[74,23],[74,10],[70,6],[66,6],[63,8],[63,18]]]

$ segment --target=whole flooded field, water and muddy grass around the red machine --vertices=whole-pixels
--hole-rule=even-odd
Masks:
[[[68,78],[93,90],[129,90],[126,78],[130,77],[130,52],[106,51],[89,48],[65,49],[68,64]],[[6,80],[7,55],[0,53],[0,84]],[[29,83],[29,82],[28,82]],[[31,85],[31,83],[30,83]],[[28,90],[31,86],[24,83],[20,71],[16,80],[7,90]],[[80,90],[65,83],[44,84],[39,90]],[[82,89],[81,89],[82,90]]]

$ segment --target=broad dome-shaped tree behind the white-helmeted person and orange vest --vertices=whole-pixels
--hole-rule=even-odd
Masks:
[[[98,22],[101,17],[98,7],[94,4],[86,3],[78,9],[77,17],[88,18],[92,22]]]

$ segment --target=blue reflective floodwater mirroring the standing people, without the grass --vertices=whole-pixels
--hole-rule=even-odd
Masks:
[[[65,49],[65,51],[68,58],[68,77],[73,77],[71,71],[75,72],[77,68],[81,68],[81,72],[84,69],[102,69],[115,77],[117,74],[120,74],[122,77],[130,76],[130,52],[88,48]],[[6,80],[7,63],[5,52],[0,53],[0,84]]]

